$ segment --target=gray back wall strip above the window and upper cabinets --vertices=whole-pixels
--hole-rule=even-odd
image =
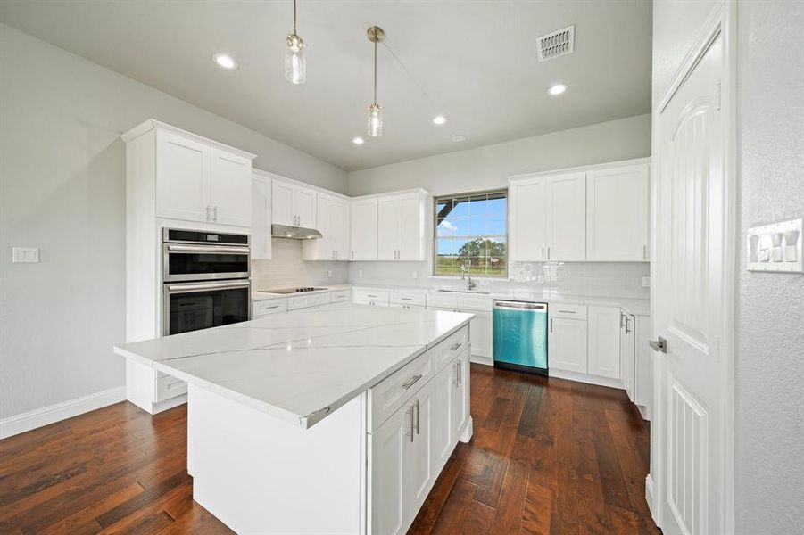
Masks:
[[[638,115],[349,173],[352,195],[423,187],[435,195],[505,187],[511,175],[651,155],[651,116]]]

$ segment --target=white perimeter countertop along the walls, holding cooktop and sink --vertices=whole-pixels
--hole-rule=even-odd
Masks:
[[[328,287],[326,290],[317,292],[303,292],[292,294],[280,294],[269,292],[253,292],[253,300],[269,300],[281,299],[286,297],[293,297],[295,295],[308,295],[311,293],[325,293],[336,292],[339,290],[352,290],[354,288],[375,289],[385,292],[417,292],[426,294],[437,295],[454,295],[454,296],[471,296],[476,298],[488,299],[510,299],[510,300],[533,300],[543,303],[567,303],[578,305],[598,305],[603,307],[619,307],[625,309],[627,312],[634,314],[634,316],[650,316],[651,315],[651,300],[647,299],[629,299],[619,297],[595,297],[588,295],[575,295],[575,294],[558,294],[555,292],[541,292],[538,290],[529,290],[526,288],[511,288],[508,291],[493,291],[485,293],[484,290],[475,290],[473,292],[442,292],[437,288],[423,288],[423,287],[406,287],[384,284],[338,284],[336,286]]]

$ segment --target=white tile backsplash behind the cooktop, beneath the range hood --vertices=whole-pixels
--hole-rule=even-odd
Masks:
[[[308,261],[302,259],[302,240],[273,238],[269,260],[252,260],[254,290],[294,286],[344,284],[349,278],[347,262]],[[329,276],[329,271],[332,276]]]

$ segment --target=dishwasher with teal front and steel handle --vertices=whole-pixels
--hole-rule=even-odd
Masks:
[[[494,366],[547,374],[547,304],[494,300]]]

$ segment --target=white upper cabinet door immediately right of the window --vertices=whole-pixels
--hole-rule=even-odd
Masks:
[[[511,187],[510,235],[514,261],[547,259],[547,178]]]

